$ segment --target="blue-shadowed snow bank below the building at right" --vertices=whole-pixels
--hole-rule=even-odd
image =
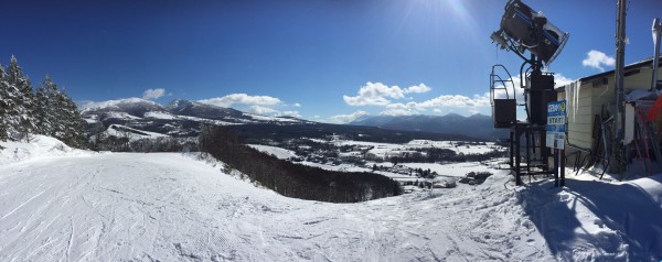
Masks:
[[[570,177],[566,188],[533,183],[517,193],[559,260],[662,259],[662,175],[627,183]],[[592,178],[592,179],[591,179]]]

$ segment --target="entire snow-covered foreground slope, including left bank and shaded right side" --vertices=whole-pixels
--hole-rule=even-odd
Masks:
[[[181,154],[82,152],[44,137],[1,144],[0,261],[662,258],[660,176],[553,189],[515,188],[496,172],[479,186],[328,204]]]

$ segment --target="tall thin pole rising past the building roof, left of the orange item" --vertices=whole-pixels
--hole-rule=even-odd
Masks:
[[[622,125],[626,122],[623,103],[623,70],[626,58],[626,0],[618,0],[618,15],[616,20],[616,105],[613,118],[613,141],[611,144],[611,173],[620,173],[621,166],[621,144],[623,141]]]

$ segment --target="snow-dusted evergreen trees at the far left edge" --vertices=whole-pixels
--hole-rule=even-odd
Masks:
[[[35,89],[13,55],[7,68],[0,65],[0,141],[44,134],[85,148],[86,129],[76,103],[50,76]]]

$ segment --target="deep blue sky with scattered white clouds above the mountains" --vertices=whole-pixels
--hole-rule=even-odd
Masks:
[[[629,2],[626,63],[633,63],[652,56],[651,24],[662,1]],[[616,1],[525,3],[570,33],[549,68],[557,81],[613,69]],[[50,74],[79,102],[183,98],[329,122],[489,114],[491,66],[514,73],[521,64],[489,37],[504,4],[15,1],[0,8],[0,61],[7,65],[15,55],[34,86]]]

